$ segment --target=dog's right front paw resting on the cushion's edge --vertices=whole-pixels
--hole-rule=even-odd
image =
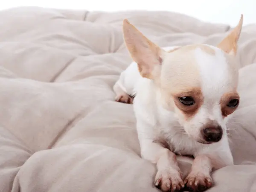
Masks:
[[[212,178],[201,172],[191,172],[184,180],[187,187],[191,188],[194,192],[202,192],[212,186]]]

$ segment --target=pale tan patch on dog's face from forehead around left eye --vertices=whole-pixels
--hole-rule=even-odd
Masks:
[[[197,111],[196,106],[194,106],[195,108],[190,106],[191,109],[185,109],[181,105],[177,105],[179,102],[177,102],[177,96],[187,93],[187,96],[198,97],[195,100],[202,99],[200,73],[193,54],[193,49],[196,48],[197,46],[195,45],[189,45],[167,53],[163,58],[161,76],[158,83],[164,107],[169,110],[178,109],[185,118],[195,114],[192,111]]]

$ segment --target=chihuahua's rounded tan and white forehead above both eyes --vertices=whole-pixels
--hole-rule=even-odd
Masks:
[[[198,44],[181,47],[166,55],[161,84],[170,92],[179,93],[195,87],[205,94],[218,90],[223,94],[235,86],[227,55],[217,47]]]

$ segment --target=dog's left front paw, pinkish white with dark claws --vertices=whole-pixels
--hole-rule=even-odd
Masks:
[[[176,192],[184,187],[180,172],[171,168],[157,171],[157,175],[155,177],[155,185],[164,192]]]

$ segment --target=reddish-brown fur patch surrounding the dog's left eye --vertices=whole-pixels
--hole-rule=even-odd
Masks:
[[[186,120],[192,118],[204,102],[203,94],[199,87],[195,87],[189,91],[173,94],[172,97],[176,107],[183,113]],[[184,105],[180,102],[180,97],[192,97],[195,104],[190,106]]]

